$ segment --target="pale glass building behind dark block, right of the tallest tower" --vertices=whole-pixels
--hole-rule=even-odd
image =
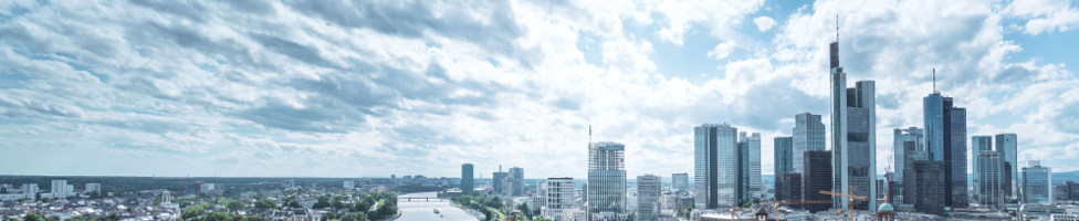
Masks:
[[[892,191],[893,198],[890,198],[889,200],[891,200],[892,203],[903,204],[905,202],[903,200],[903,170],[907,168],[907,165],[911,164],[911,154],[914,151],[925,151],[924,130],[919,129],[918,127],[910,127],[905,129],[895,128],[893,130],[893,139],[894,141],[892,144],[894,145],[894,158],[892,160],[895,167],[895,172],[892,173],[893,176],[891,178],[895,185],[890,186],[892,187],[890,191]]]

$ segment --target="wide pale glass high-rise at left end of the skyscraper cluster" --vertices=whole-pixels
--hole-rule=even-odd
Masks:
[[[693,133],[694,208],[738,206],[738,129],[726,124],[705,124],[694,127]]]

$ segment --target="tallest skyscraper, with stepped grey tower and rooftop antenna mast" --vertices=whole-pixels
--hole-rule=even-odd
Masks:
[[[839,66],[839,42],[831,45],[831,154],[832,191],[868,196],[852,208],[877,210],[877,99],[873,81],[860,81],[847,88],[847,73]],[[853,189],[851,189],[853,188]],[[832,198],[836,208],[848,208],[842,197]]]

